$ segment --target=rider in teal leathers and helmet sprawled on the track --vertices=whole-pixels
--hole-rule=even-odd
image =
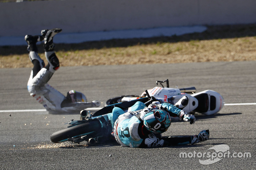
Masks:
[[[162,137],[171,124],[171,116],[193,124],[196,119],[170,103],[153,102],[148,107],[118,116],[113,135],[121,146],[159,147],[166,145],[195,144],[209,139],[209,130],[198,135]]]

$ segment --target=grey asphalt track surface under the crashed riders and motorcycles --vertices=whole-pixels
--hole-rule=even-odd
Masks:
[[[226,103],[255,103],[256,62],[61,67],[49,84],[66,94],[83,92],[88,100],[105,102],[123,94],[141,94],[156,86],[195,86],[197,92],[219,92]],[[27,91],[30,69],[0,69],[0,110],[44,109]],[[103,104],[102,106],[103,107]],[[53,144],[50,135],[79,115],[44,111],[0,113],[0,169],[255,169],[256,105],[224,106],[211,116],[196,114],[196,123],[172,122],[164,136],[194,135],[210,130],[210,140],[164,148],[126,148],[116,143],[86,146]],[[222,144],[222,145],[220,145]],[[229,155],[211,147],[228,146]],[[210,152],[210,159],[201,154]],[[221,152],[220,152],[221,151]],[[180,158],[180,153],[187,158]],[[228,153],[228,152],[226,152]],[[237,154],[236,154],[237,153]],[[238,154],[239,153],[239,154]],[[246,158],[244,153],[250,153]],[[215,158],[218,154],[219,159]],[[234,156],[237,158],[234,158]],[[245,158],[244,156],[245,155]],[[200,157],[201,156],[201,157]],[[231,158],[232,157],[232,158]]]

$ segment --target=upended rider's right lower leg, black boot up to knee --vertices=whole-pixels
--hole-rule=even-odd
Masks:
[[[55,52],[54,52],[54,43],[53,43],[53,37],[57,33],[60,33],[62,29],[60,28],[54,28],[51,30],[42,30],[41,35],[44,36],[44,54],[45,58],[48,61],[50,67],[49,71],[54,73],[56,70],[60,68],[60,62],[57,58]]]

